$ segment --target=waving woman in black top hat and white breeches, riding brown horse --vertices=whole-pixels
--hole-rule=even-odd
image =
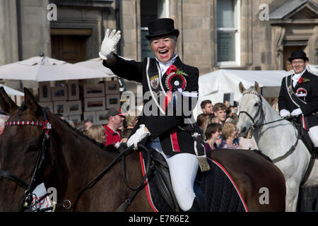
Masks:
[[[198,138],[193,136],[197,131],[195,121],[186,124],[191,116],[185,115],[183,110],[182,114],[176,114],[179,109],[175,107],[177,101],[192,102],[192,98],[197,99],[199,69],[183,64],[178,54],[175,54],[179,30],[175,29],[172,19],[151,21],[148,23],[148,32],[146,38],[150,41],[155,58],[126,61],[118,57],[113,53],[121,37],[120,31],[116,30],[110,33],[107,29],[100,49],[104,66],[119,77],[143,85],[143,113],[126,144],[137,148],[142,141],[142,144],[145,143],[161,153],[169,165],[172,188],[179,207],[184,211],[203,210],[193,186],[199,166],[203,167],[202,171],[209,169],[206,169],[208,163],[204,141],[202,139],[202,143],[194,142]],[[146,97],[146,93],[151,98]],[[160,102],[162,97],[165,100],[163,104]],[[195,105],[188,108],[191,112],[192,107]],[[169,112],[170,109],[172,112]],[[196,147],[195,143],[198,144]]]

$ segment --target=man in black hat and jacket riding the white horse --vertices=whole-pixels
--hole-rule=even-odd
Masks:
[[[283,78],[278,96],[281,117],[297,117],[318,147],[318,77],[307,71],[305,52],[294,51],[290,58],[294,74]]]

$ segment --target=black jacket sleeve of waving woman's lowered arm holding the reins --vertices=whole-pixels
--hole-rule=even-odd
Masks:
[[[191,67],[191,70],[187,71],[188,79],[187,79],[187,88],[184,91],[197,93],[198,92],[198,79],[199,79],[199,70],[197,68]],[[182,95],[181,95],[182,96]],[[184,114],[184,109],[192,112],[192,108],[196,105],[197,97],[184,97],[182,96],[182,102],[184,102],[184,98],[187,98],[187,102],[193,102],[193,104],[189,104],[189,106],[182,106],[181,114],[172,115],[172,116],[149,116],[146,117],[145,125],[148,130],[151,132],[151,138],[156,138],[160,136],[160,134],[165,133],[166,131],[170,131],[175,126],[184,124],[184,119],[189,117],[187,114]],[[195,99],[192,101],[192,99]]]

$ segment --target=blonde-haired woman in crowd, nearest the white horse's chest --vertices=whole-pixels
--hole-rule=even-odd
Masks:
[[[235,124],[226,122],[222,127],[222,142],[220,148],[238,149],[237,130]]]

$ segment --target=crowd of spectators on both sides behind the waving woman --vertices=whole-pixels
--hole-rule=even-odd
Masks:
[[[206,153],[220,148],[257,149],[257,145],[253,141],[245,145],[244,138],[237,138],[235,126],[238,120],[237,102],[234,102],[234,105],[230,105],[228,101],[218,102],[213,106],[211,100],[204,100],[201,102],[201,109],[203,113],[196,117],[196,122],[204,138]],[[128,140],[140,114],[141,112],[137,110],[123,114],[120,109],[113,107],[107,113],[108,124],[105,125],[93,124],[88,119],[79,121],[77,124],[70,120],[66,121],[98,143],[103,143],[105,146],[118,146]],[[56,114],[56,116],[64,119],[61,114]]]

